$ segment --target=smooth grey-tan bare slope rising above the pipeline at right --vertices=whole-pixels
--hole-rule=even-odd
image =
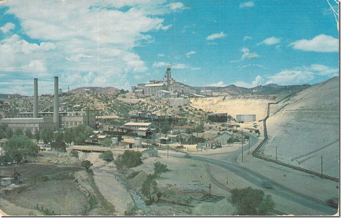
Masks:
[[[267,120],[263,154],[339,177],[339,77],[311,86],[278,105]]]

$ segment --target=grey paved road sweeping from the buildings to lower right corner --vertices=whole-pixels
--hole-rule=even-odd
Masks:
[[[249,135],[249,134],[248,134]],[[250,137],[250,148],[255,146],[258,143],[258,138],[249,135]],[[337,209],[328,206],[324,200],[319,199],[318,196],[310,197],[303,193],[300,193],[294,189],[286,187],[282,184],[277,183],[275,180],[264,176],[262,173],[249,169],[247,167],[241,166],[237,159],[241,156],[241,149],[238,149],[234,152],[229,153],[220,153],[220,154],[211,154],[206,156],[199,156],[191,154],[191,158],[194,160],[207,162],[209,164],[217,165],[222,167],[223,169],[230,171],[234,174],[237,174],[241,178],[247,180],[249,183],[254,184],[255,186],[263,189],[262,181],[263,179],[268,179],[272,185],[272,189],[266,189],[273,195],[278,195],[282,198],[288,199],[290,201],[296,202],[297,206],[303,205],[314,210],[318,210],[323,212],[324,215],[334,215],[337,213]],[[251,153],[251,151],[250,151]],[[244,144],[244,155],[248,154],[248,144]],[[184,155],[170,155],[184,158]],[[250,158],[250,156],[248,156]],[[252,157],[255,158],[255,157]],[[227,161],[229,160],[229,161]],[[266,165],[262,165],[262,168],[267,167]],[[265,169],[266,170],[266,169]],[[282,211],[284,213],[290,214],[290,211]],[[314,215],[314,214],[307,214]]]

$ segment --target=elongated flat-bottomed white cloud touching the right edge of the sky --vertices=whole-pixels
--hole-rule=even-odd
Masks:
[[[325,34],[315,36],[311,40],[301,39],[289,46],[303,51],[339,52],[339,40]]]

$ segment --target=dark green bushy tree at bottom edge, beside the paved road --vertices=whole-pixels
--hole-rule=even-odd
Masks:
[[[260,189],[234,188],[231,190],[231,194],[230,202],[237,207],[235,215],[267,216],[275,207],[271,195],[265,195]]]

